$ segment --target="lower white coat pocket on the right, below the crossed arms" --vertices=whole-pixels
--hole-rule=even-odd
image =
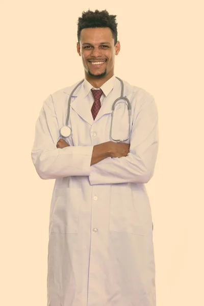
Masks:
[[[109,227],[110,231],[113,232],[124,232],[140,236],[145,235],[142,215],[134,203],[130,189],[119,189],[117,192],[112,192]]]

